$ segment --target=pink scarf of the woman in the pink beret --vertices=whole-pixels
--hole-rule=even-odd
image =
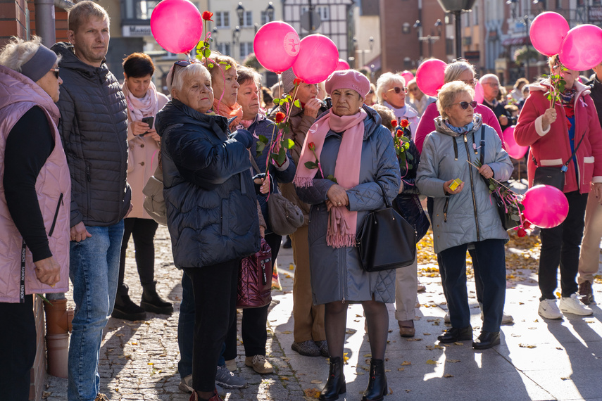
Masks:
[[[315,144],[315,154],[320,160],[320,153],[324,146],[326,134],[332,129],[334,132],[344,132],[337,155],[337,164],[334,167],[334,177],[344,189],[351,189],[360,183],[360,161],[362,143],[364,138],[363,120],[368,114],[360,109],[354,115],[338,116],[330,113],[322,117],[309,129],[303,149],[299,157],[299,165],[294,183],[296,186],[313,186],[313,177],[318,169],[308,169],[306,162],[315,162],[313,152],[308,144]],[[320,162],[321,163],[321,162]],[[356,231],[358,227],[358,212],[351,212],[346,206],[334,206],[330,209],[326,243],[334,248],[356,246]]]

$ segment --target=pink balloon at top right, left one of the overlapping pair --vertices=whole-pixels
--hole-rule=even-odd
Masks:
[[[567,20],[558,13],[548,11],[535,17],[531,23],[529,37],[531,37],[531,44],[539,53],[553,56],[560,51],[560,45],[567,32],[569,32]]]

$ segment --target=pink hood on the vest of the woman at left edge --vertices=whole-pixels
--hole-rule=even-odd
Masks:
[[[0,108],[13,103],[34,102],[48,111],[58,124],[61,114],[49,94],[30,78],[0,65]]]

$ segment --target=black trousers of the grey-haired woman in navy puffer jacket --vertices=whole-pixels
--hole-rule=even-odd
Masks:
[[[192,387],[215,389],[215,373],[222,345],[236,318],[239,260],[206,267],[185,267],[194,292]]]

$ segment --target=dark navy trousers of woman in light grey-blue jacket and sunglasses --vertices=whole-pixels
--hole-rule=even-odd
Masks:
[[[502,239],[475,242],[473,261],[475,277],[483,284],[483,330],[500,331],[503,304],[506,300],[506,255]],[[470,307],[466,289],[466,250],[468,243],[442,250],[439,253],[439,273],[451,326],[458,329],[470,326]],[[478,267],[477,267],[478,266]]]

